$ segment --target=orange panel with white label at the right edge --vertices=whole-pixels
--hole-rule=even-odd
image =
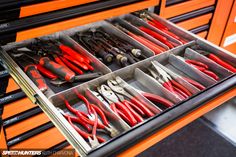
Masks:
[[[236,1],[234,1],[220,46],[236,54]]]

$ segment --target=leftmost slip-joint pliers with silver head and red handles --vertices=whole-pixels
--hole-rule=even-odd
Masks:
[[[134,118],[130,110],[126,105],[120,102],[116,94],[107,85],[101,85],[97,87],[98,92],[107,100],[110,108],[130,126],[137,124],[137,120]]]

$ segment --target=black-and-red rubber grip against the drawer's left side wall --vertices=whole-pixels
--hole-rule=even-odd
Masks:
[[[27,65],[24,68],[25,73],[29,78],[35,83],[41,92],[45,92],[48,89],[48,86],[43,78],[43,76],[37,70],[35,65]]]

